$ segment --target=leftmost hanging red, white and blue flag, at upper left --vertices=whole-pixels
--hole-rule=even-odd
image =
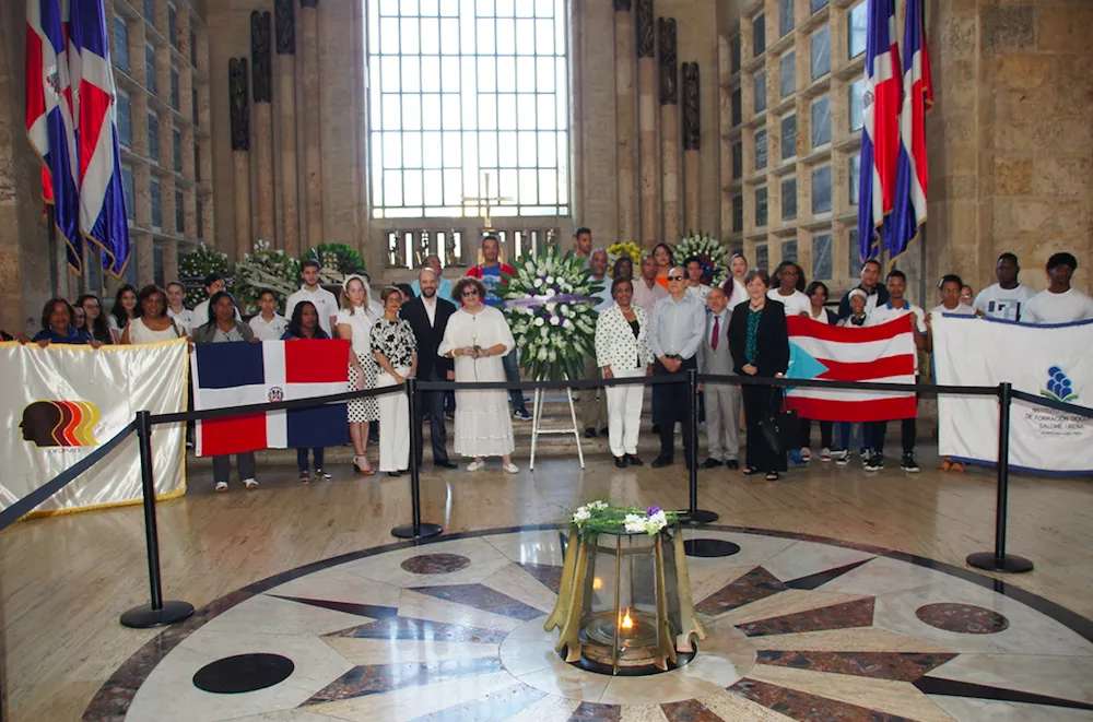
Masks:
[[[69,265],[80,273],[83,240],[69,20],[68,1],[26,1],[26,135],[42,158],[42,198],[54,206]]]

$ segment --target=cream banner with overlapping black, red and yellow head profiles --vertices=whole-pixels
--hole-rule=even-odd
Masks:
[[[186,410],[187,341],[131,346],[0,343],[0,508],[57,476],[129,424],[136,413]],[[152,430],[157,498],[186,490],[185,424]],[[35,513],[98,509],[141,499],[137,435]]]

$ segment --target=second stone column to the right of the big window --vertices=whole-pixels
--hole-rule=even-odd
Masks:
[[[653,248],[661,240],[657,184],[657,100],[654,94],[653,0],[637,0],[637,154],[642,177],[640,245]]]

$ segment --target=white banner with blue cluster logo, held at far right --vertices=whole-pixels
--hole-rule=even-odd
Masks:
[[[1032,326],[996,319],[935,318],[938,383],[996,386],[1093,406],[1093,321]],[[938,450],[962,461],[998,459],[998,400],[939,395]],[[1036,472],[1093,473],[1093,419],[1013,401],[1010,464]]]

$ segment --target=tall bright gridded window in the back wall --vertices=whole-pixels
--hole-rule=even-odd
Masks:
[[[368,0],[376,217],[567,215],[564,0]]]

